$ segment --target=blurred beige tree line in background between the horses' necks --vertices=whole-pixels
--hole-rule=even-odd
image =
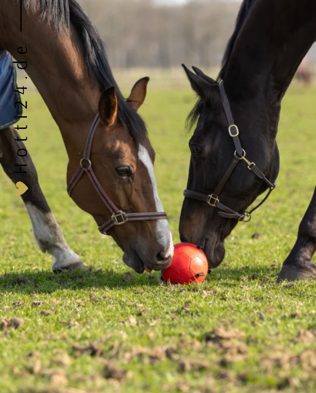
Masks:
[[[239,2],[194,0],[79,0],[105,43],[111,66],[218,66],[234,29]]]

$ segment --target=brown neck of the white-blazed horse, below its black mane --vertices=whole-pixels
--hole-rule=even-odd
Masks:
[[[92,87],[88,79],[80,39],[74,29],[70,34],[57,33],[47,21],[38,22],[38,17],[26,13],[20,33],[16,22],[18,9],[5,4],[0,5],[0,14],[6,15],[10,24],[0,23],[0,47],[8,50],[16,61],[27,62],[26,72],[56,121],[68,156],[74,151],[78,154],[97,114],[100,98],[98,84]],[[23,50],[27,48],[27,53],[17,52],[21,46]]]

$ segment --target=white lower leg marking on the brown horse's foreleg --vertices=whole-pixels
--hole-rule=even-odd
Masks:
[[[38,247],[42,252],[48,252],[55,258],[53,270],[80,262],[79,255],[66,243],[53,213],[44,213],[30,202],[26,202],[25,206]]]

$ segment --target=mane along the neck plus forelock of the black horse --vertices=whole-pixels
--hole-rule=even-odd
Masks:
[[[235,26],[234,33],[232,34],[232,36],[228,40],[228,44],[225,49],[225,53],[224,53],[223,60],[222,60],[221,70],[220,70],[218,77],[217,77],[217,82],[219,82],[221,79],[224,79],[227,64],[228,64],[230,55],[232,53],[232,50],[234,48],[234,44],[236,42],[238,34],[241,31],[241,28],[243,27],[243,24],[245,23],[245,20],[250,12],[251,7],[254,5],[254,2],[256,2],[256,0],[243,0],[243,3],[241,4],[241,7],[238,12],[237,20],[236,20],[236,26]],[[194,105],[194,108],[191,110],[191,112],[188,115],[188,118],[186,119],[186,127],[188,129],[192,129],[192,127],[196,123],[197,119],[199,118],[204,105],[205,105],[205,103],[203,103],[203,101],[201,99],[199,99],[197,101],[197,103]]]

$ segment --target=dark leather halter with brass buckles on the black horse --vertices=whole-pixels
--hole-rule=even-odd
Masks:
[[[226,115],[226,118],[228,121],[228,133],[233,138],[235,149],[236,149],[236,151],[234,153],[234,158],[233,158],[232,162],[230,163],[229,167],[227,168],[226,172],[224,173],[221,181],[219,182],[219,184],[217,185],[216,189],[214,190],[214,192],[212,194],[206,195],[206,194],[202,194],[202,193],[197,193],[195,191],[184,190],[183,195],[186,196],[187,198],[201,200],[203,202],[208,203],[213,208],[217,208],[217,209],[221,210],[221,211],[219,211],[218,214],[222,217],[226,217],[228,219],[237,219],[238,221],[248,222],[251,219],[251,213],[253,211],[255,211],[256,209],[258,209],[259,206],[261,206],[267,200],[267,198],[271,194],[272,190],[274,190],[274,188],[276,187],[276,184],[271,183],[265,177],[265,175],[260,171],[260,169],[258,169],[258,167],[256,166],[256,164],[254,162],[250,162],[249,160],[247,160],[246,152],[241,147],[241,143],[240,143],[240,140],[238,137],[239,130],[238,130],[237,125],[234,123],[234,118],[233,118],[232,112],[230,110],[228,98],[227,98],[227,95],[224,90],[223,81],[219,82],[219,92],[221,95],[221,101],[223,104],[225,115]],[[237,163],[241,160],[244,161],[245,163],[247,163],[247,168],[250,171],[252,171],[256,176],[258,176],[259,179],[263,180],[269,186],[269,191],[268,191],[267,195],[263,198],[263,200],[257,206],[255,206],[253,209],[251,209],[250,211],[245,211],[245,213],[238,213],[237,211],[234,211],[234,210],[228,208],[227,206],[223,205],[219,201],[219,195],[223,191],[223,188],[224,188],[225,184],[227,183],[228,179],[230,178],[230,175],[234,171]]]

